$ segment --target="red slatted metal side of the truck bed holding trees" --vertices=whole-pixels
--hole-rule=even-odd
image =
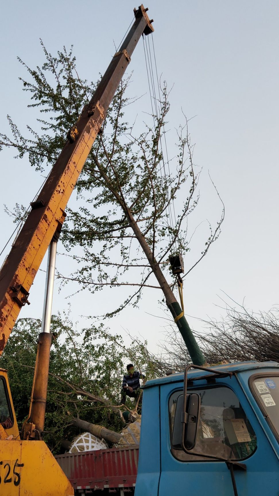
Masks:
[[[134,494],[139,446],[65,453],[56,459],[74,488],[75,495]]]

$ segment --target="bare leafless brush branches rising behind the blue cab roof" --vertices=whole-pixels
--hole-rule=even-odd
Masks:
[[[208,364],[249,360],[279,363],[279,309],[250,312],[243,305],[226,305],[226,317],[205,322],[205,332],[195,333]],[[162,363],[183,371],[191,363],[185,343],[175,329],[166,333]]]

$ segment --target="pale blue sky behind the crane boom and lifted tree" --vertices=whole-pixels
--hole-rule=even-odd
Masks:
[[[117,4],[111,0],[11,0],[2,4],[1,132],[8,130],[7,114],[22,130],[35,122],[18,80],[26,73],[17,56],[32,67],[44,62],[39,38],[52,54],[63,45],[69,48],[73,44],[80,76],[96,80],[114,54],[114,42],[118,45],[128,28],[134,6],[128,0]],[[223,313],[216,307],[222,291],[238,302],[245,298],[247,307],[255,311],[269,310],[279,303],[279,2],[149,0],[145,6],[154,19],[158,73],[169,87],[174,85],[170,94],[169,155],[175,153],[173,136],[183,120],[181,108],[188,118],[195,116],[190,131],[196,142],[195,162],[203,172],[199,211],[192,229],[202,224],[192,251],[184,259],[186,267],[203,248],[206,219],[214,224],[220,214],[208,170],[226,209],[219,240],[184,283],[189,322],[201,330],[203,324],[194,317],[218,318]],[[130,69],[134,70],[131,93],[145,94],[135,110],[140,123],[143,110],[150,112],[142,43],[134,52]],[[11,150],[0,153],[2,245],[14,229],[3,204],[10,209],[15,202],[28,205],[43,181],[27,159],[14,160],[13,155]],[[65,263],[62,258],[58,257],[58,268]],[[30,292],[31,305],[20,316],[41,317],[43,293],[44,273],[40,273]],[[56,283],[54,312],[67,308],[69,299],[65,297],[70,293],[68,287],[58,294]],[[146,290],[140,309],[126,310],[110,322],[111,329],[141,333],[154,348],[162,339],[164,325],[159,318],[163,315],[157,304],[159,298]],[[85,319],[80,315],[92,314],[92,309],[102,304],[101,296],[78,293],[71,298],[73,320],[83,325]]]

